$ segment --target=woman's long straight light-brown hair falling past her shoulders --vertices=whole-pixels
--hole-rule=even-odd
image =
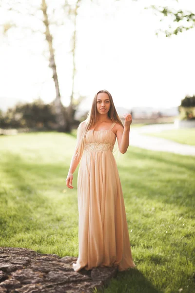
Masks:
[[[77,146],[76,156],[78,156],[78,157],[82,156],[87,131],[91,127],[95,126],[96,123],[98,122],[97,96],[99,93],[107,93],[109,96],[111,105],[110,105],[110,109],[108,111],[108,117],[112,120],[112,122],[116,122],[116,123],[120,124],[122,127],[124,127],[122,124],[122,121],[120,120],[120,118],[117,114],[117,110],[115,108],[113,98],[112,98],[111,94],[109,93],[109,91],[107,91],[106,89],[99,90],[94,97],[91,110],[87,114],[87,119],[85,121],[81,122],[78,126],[78,131],[80,131],[81,124],[85,123],[85,127],[83,128],[82,133],[80,134],[81,137],[79,138],[79,142],[78,142],[78,146]]]

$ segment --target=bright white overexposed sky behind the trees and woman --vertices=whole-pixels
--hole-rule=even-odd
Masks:
[[[144,10],[146,6],[161,3],[195,11],[194,0],[178,3],[100,0],[99,3],[84,0],[78,11],[76,92],[87,96],[82,108],[89,109],[99,89],[109,90],[115,105],[126,108],[177,106],[186,94],[195,94],[195,29],[171,38],[156,37],[156,30],[167,28],[168,21],[159,22],[152,10]],[[1,22],[7,20],[2,14],[3,10]],[[39,24],[36,25],[39,29]],[[67,24],[54,35],[64,105],[69,103],[72,88],[71,33],[72,27]],[[19,38],[21,41],[17,41]],[[23,38],[21,32],[13,30],[7,39],[1,37],[0,42],[0,108],[6,109],[17,101],[33,101],[39,96],[51,102],[55,87],[44,57],[47,44],[41,36],[28,32]]]

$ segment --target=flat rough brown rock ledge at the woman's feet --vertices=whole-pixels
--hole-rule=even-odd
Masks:
[[[117,268],[75,272],[77,257],[0,247],[0,293],[91,293],[117,275]]]

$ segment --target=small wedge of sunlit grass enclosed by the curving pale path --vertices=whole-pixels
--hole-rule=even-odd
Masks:
[[[144,133],[144,135],[162,137],[180,144],[195,146],[195,128],[170,129],[155,133]]]

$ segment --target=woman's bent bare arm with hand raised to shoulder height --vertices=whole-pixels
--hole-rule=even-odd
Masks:
[[[131,114],[124,114],[125,122],[124,128],[121,125],[117,126],[117,142],[119,151],[124,154],[126,153],[129,146],[129,133],[130,133],[130,125],[132,123]]]

